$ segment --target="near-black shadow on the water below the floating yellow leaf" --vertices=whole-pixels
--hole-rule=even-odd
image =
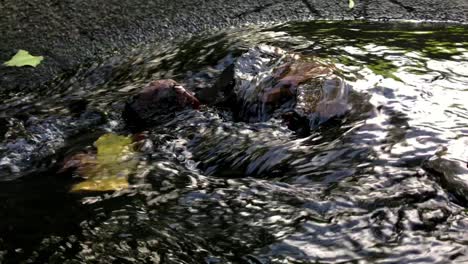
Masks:
[[[8,251],[3,263],[24,261],[44,238],[79,235],[80,222],[91,213],[68,193],[69,187],[69,179],[52,174],[0,184],[0,248]],[[76,250],[70,248],[68,253]]]

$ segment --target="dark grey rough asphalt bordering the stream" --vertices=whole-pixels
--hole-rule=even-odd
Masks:
[[[21,90],[80,64],[151,41],[246,23],[309,19],[468,21],[467,0],[0,0],[0,62],[18,49],[37,68],[0,66],[0,92]]]

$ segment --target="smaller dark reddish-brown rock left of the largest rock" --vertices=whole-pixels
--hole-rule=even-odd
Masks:
[[[122,117],[130,127],[144,127],[156,121],[156,117],[199,107],[198,99],[176,81],[157,80],[126,103]]]

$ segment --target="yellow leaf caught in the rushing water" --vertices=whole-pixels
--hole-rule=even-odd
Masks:
[[[136,153],[130,137],[104,134],[96,142],[97,154],[75,155],[73,162],[86,180],[74,185],[77,191],[115,191],[128,187],[128,176],[136,169]]]

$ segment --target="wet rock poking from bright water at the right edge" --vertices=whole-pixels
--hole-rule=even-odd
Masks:
[[[461,138],[441,148],[423,164],[441,184],[463,202],[468,202],[468,139]]]

